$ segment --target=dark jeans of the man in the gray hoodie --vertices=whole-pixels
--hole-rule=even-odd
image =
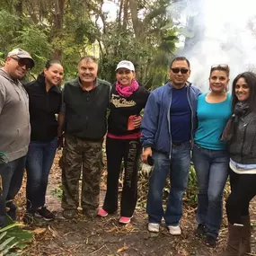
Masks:
[[[7,214],[13,220],[16,218],[16,206],[13,204],[13,199],[22,187],[25,162],[26,157],[22,156],[12,162],[0,164],[0,175],[3,186],[3,191],[0,195],[0,226],[4,225],[6,207],[10,208]],[[6,201],[9,202],[6,203]]]

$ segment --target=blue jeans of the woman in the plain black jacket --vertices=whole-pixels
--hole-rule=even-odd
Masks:
[[[27,210],[45,205],[49,171],[57,150],[57,137],[51,141],[31,141],[27,154]]]

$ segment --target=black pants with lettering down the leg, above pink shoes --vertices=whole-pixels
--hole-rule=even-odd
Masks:
[[[125,176],[120,215],[133,215],[137,203],[137,172],[141,148],[139,139],[113,139],[107,137],[108,178],[103,209],[108,213],[114,213],[118,209],[119,173],[122,159],[124,159]]]

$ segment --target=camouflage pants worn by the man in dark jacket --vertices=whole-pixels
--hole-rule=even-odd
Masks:
[[[66,135],[62,169],[62,207],[79,206],[79,180],[83,170],[81,207],[95,216],[99,206],[102,175],[102,141],[92,142]]]

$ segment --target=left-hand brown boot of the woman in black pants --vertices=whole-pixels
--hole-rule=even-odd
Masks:
[[[222,252],[218,256],[239,256],[239,246],[241,243],[241,236],[243,231],[243,225],[228,225],[228,240],[225,248],[225,252]]]

